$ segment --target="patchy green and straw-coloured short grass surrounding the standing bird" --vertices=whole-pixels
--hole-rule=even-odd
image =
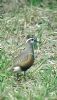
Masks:
[[[9,69],[27,34],[40,41],[34,65],[19,81]],[[0,100],[57,100],[57,8],[24,6],[0,18]]]

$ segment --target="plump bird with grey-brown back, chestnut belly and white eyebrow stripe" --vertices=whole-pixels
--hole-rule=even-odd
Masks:
[[[25,76],[25,72],[33,65],[35,44],[37,44],[37,38],[34,35],[27,35],[25,49],[18,55],[18,66],[13,67],[14,72],[17,72],[17,78],[19,70],[24,71]]]

